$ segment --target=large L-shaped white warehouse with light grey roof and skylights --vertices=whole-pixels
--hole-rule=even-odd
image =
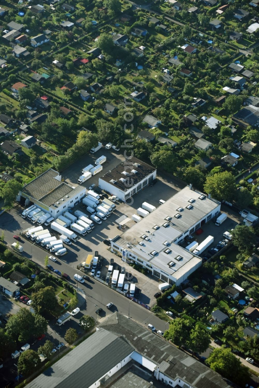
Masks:
[[[221,203],[187,186],[111,241],[111,251],[179,286],[202,259],[177,245],[216,217]]]

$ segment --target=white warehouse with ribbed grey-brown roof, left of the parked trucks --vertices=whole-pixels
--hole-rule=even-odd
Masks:
[[[78,204],[85,195],[85,187],[73,187],[62,182],[61,175],[49,168],[23,187],[18,200],[26,198],[25,206],[33,202],[56,219]]]

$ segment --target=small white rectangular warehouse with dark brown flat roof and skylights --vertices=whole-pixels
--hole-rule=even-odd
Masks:
[[[156,169],[137,158],[125,159],[103,177],[99,187],[126,201],[156,178]]]

